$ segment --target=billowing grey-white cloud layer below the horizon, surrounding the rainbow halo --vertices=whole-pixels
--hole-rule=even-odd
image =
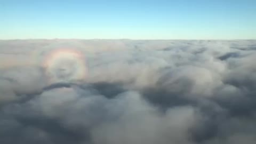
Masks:
[[[0,47],[3,144],[256,142],[256,41],[42,39]],[[84,55],[79,82],[49,82],[42,63],[62,48]],[[52,73],[62,67],[74,70],[62,62]]]

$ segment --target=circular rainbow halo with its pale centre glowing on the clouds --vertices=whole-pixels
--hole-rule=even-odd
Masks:
[[[50,83],[81,82],[87,74],[82,52],[74,49],[54,49],[46,55],[43,67]]]

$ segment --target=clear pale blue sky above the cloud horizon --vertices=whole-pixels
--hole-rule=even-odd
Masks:
[[[0,0],[0,39],[256,39],[256,0]]]

